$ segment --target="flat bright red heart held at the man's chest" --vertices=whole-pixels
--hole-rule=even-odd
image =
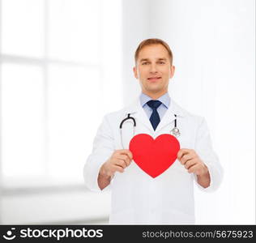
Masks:
[[[139,168],[155,178],[177,159],[180,143],[170,134],[161,134],[156,139],[148,134],[138,134],[130,140],[129,149]]]

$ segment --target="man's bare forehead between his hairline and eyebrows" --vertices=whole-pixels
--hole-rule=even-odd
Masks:
[[[156,58],[169,58],[169,53],[164,45],[154,44],[146,45],[139,51],[138,59],[156,59]]]

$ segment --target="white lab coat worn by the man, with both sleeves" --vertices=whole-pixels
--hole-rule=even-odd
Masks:
[[[136,120],[126,122],[122,129],[123,144],[129,148],[130,139],[135,134],[150,134],[156,139],[160,134],[170,134],[177,114],[177,128],[181,135],[177,139],[181,148],[194,149],[210,172],[211,185],[204,191],[216,190],[222,180],[222,167],[211,147],[207,123],[203,117],[194,116],[181,109],[173,99],[164,113],[156,131],[153,130],[139,98],[129,107],[105,115],[93,143],[92,154],[84,166],[85,184],[90,190],[100,191],[97,177],[100,166],[112,155],[114,150],[122,149],[119,125],[130,113]],[[110,185],[111,213],[109,224],[194,224],[194,173],[176,160],[164,173],[152,178],[132,161],[124,173],[115,173]],[[104,191],[104,190],[103,190]]]

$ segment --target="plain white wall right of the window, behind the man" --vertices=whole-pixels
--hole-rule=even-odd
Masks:
[[[197,224],[255,224],[254,0],[124,1],[123,9],[125,104],[140,91],[137,45],[166,40],[176,66],[169,92],[206,117],[224,167],[220,190],[195,191]]]

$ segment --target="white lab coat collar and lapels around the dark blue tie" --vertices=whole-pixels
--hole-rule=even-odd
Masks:
[[[162,117],[159,125],[156,127],[156,130],[154,130],[151,126],[151,122],[149,121],[146,112],[140,104],[139,97],[135,100],[133,104],[130,104],[130,106],[126,108],[125,115],[127,116],[128,113],[130,113],[130,116],[135,117],[135,119],[139,122],[142,122],[144,126],[147,126],[151,133],[157,133],[165,126],[169,126],[169,124],[175,120],[174,114],[177,115],[177,119],[179,117],[186,116],[186,111],[184,109],[181,109],[181,107],[173,99],[171,99],[169,109],[167,109],[167,111],[164,113],[164,117]]]

